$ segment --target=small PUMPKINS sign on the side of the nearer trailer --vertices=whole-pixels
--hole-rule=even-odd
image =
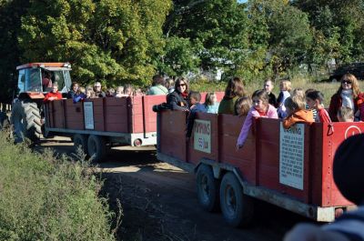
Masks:
[[[211,123],[205,120],[195,120],[194,124],[195,150],[211,153]]]

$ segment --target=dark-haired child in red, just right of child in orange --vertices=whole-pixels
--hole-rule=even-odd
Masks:
[[[316,115],[315,122],[331,123],[328,111],[323,105],[324,95],[319,91],[308,92],[306,95],[306,102],[308,107],[316,109],[318,115]]]

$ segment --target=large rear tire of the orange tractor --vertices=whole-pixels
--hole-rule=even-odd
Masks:
[[[25,138],[36,142],[42,135],[41,116],[36,103],[16,102],[12,109],[11,123],[16,143],[23,142]]]

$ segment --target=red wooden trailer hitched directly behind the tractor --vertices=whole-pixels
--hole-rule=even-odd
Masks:
[[[146,95],[48,102],[45,136],[70,136],[96,161],[105,157],[107,147],[156,145],[157,115],[152,106],[165,101],[166,95]]]

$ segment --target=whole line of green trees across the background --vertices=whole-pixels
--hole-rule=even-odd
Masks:
[[[4,0],[1,98],[27,62],[70,62],[74,80],[106,85],[217,69],[249,82],[301,64],[359,62],[362,15],[362,0]]]

